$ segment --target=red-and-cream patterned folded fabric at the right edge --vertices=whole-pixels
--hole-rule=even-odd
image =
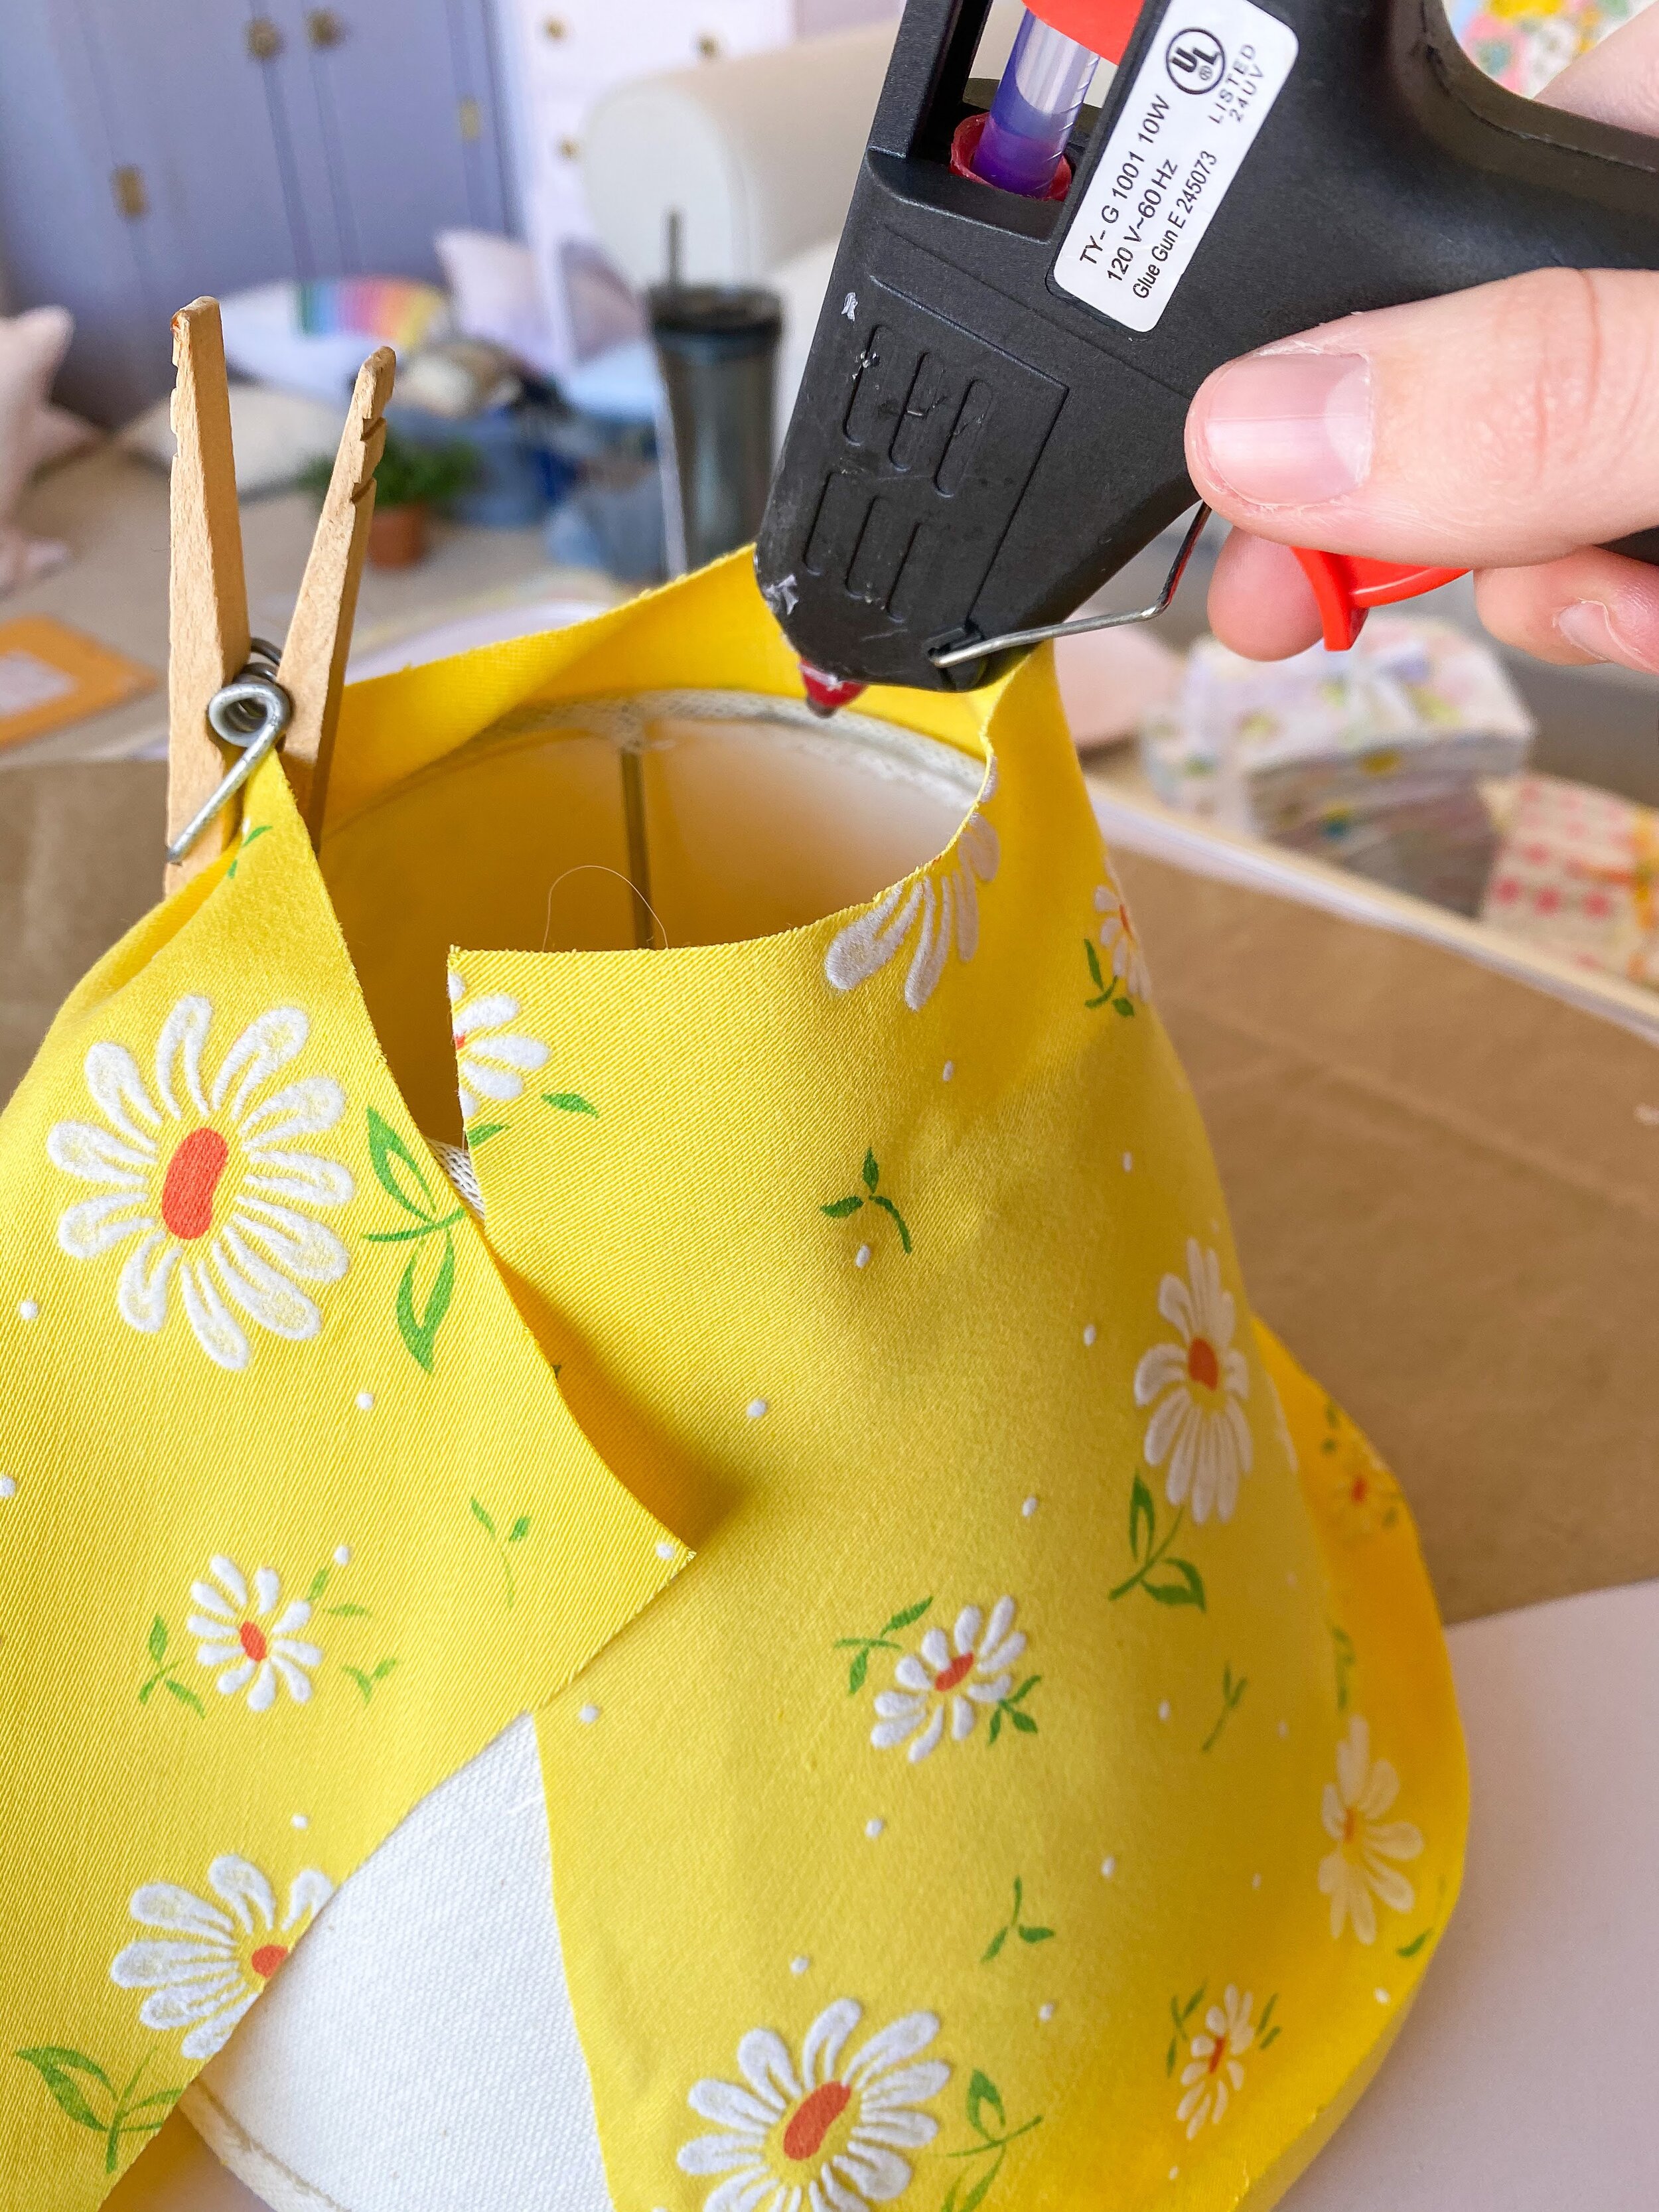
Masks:
[[[1482,922],[1659,989],[1659,814],[1559,776],[1522,776]]]

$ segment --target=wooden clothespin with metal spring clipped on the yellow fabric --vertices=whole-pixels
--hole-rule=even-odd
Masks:
[[[234,765],[208,721],[215,695],[248,666],[248,584],[241,564],[237,467],[230,447],[230,383],[215,299],[190,301],[173,319],[173,608],[168,639],[168,841],[197,816]],[[276,668],[292,699],[283,765],[312,845],[323,836],[327,774],[352,648],[356,593],[374,515],[374,469],[385,447],[385,405],[396,354],[383,345],[363,363],[334,476],[305,562],[294,619]],[[197,843],[168,865],[177,891],[237,834],[226,803]]]

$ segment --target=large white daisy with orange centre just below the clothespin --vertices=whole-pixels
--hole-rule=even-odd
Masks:
[[[212,1077],[204,1071],[212,1004],[181,998],[155,1042],[153,1082],[124,1044],[95,1044],[86,1088],[102,1121],[58,1121],[46,1155],[100,1183],[58,1219],[71,1259],[133,1245],[115,1287],[122,1321],[166,1327],[173,1292],[217,1367],[248,1367],[259,1327],[305,1343],[323,1327],[310,1285],[338,1283],[345,1245],[319,1214],[345,1206],[352,1175],[303,1146],[345,1113],[330,1075],[270,1084],[305,1046],[299,1006],[261,1013]]]

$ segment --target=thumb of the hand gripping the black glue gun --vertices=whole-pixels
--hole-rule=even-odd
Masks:
[[[1659,522],[1659,274],[1535,270],[1228,363],[1201,498],[1256,538],[1493,568]]]

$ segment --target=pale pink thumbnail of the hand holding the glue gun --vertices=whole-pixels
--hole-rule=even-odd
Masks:
[[[1248,354],[1210,385],[1199,436],[1214,473],[1254,507],[1316,507],[1371,469],[1363,354]]]

